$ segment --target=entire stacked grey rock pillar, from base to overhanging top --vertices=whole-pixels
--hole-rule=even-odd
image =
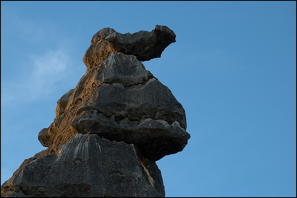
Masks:
[[[164,197],[155,161],[182,151],[190,135],[182,105],[140,61],[159,58],[175,37],[159,25],[97,32],[86,74],[38,134],[48,149],[21,164],[1,197]]]

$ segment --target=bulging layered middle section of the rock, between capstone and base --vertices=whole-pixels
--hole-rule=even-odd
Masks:
[[[135,144],[157,161],[182,151],[190,138],[182,105],[133,55],[110,54],[71,92],[58,101],[67,101],[63,113],[40,131],[43,146],[56,151],[75,133],[94,133]]]

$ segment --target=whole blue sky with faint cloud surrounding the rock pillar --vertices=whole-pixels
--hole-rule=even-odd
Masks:
[[[296,197],[296,1],[1,1],[1,184],[46,149],[92,36],[157,24],[176,43],[143,64],[191,134],[157,161],[166,197]]]

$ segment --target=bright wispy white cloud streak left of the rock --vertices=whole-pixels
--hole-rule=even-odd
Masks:
[[[1,80],[1,106],[15,102],[31,102],[53,92],[66,78],[70,65],[68,55],[61,49],[40,55],[31,55],[23,75]]]

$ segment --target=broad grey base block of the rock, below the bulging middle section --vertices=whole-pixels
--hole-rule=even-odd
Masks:
[[[165,197],[157,164],[133,144],[75,134],[16,171],[1,197]]]

